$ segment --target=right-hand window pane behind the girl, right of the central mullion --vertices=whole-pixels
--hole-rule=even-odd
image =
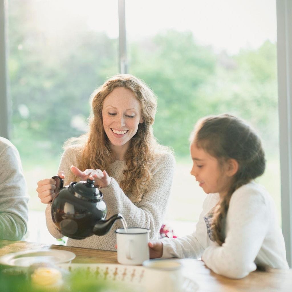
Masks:
[[[179,235],[191,231],[187,222],[197,220],[205,194],[190,175],[189,134],[200,117],[228,112],[263,138],[267,168],[259,182],[280,221],[275,1],[150,0],[139,9],[139,1],[126,1],[129,72],[158,95],[154,133],[175,150],[167,220]]]

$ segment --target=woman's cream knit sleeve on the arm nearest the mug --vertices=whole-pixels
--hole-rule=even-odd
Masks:
[[[132,201],[121,190],[117,181],[102,188],[108,215],[121,213],[128,227],[143,227],[151,230],[150,239],[157,238],[171,193],[175,160],[172,154],[161,154],[156,161],[150,189],[139,203]],[[121,223],[119,223],[122,227]]]

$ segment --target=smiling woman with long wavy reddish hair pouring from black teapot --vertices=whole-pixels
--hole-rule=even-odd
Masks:
[[[118,74],[92,94],[90,130],[65,144],[59,175],[65,185],[74,180],[94,178],[107,204],[107,217],[121,213],[129,227],[151,230],[157,238],[164,217],[174,172],[171,151],[159,145],[152,124],[156,97],[138,78]],[[51,218],[49,202],[55,196],[55,181],[38,182],[37,192],[46,208],[46,223],[55,238],[63,235]],[[116,221],[104,236],[68,239],[70,246],[114,250]]]

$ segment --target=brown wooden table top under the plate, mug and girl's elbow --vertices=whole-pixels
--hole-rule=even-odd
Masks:
[[[0,240],[0,256],[32,249],[60,249],[72,251],[72,263],[114,263],[117,253],[98,249],[48,245],[26,241]],[[182,260],[183,269],[199,285],[198,292],[291,292],[292,270],[271,269],[269,272],[252,272],[244,279],[232,280],[209,270],[202,261]],[[161,291],[163,292],[163,291]]]

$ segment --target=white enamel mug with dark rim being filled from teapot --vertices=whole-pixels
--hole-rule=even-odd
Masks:
[[[123,265],[142,265],[149,260],[149,233],[147,228],[131,227],[116,230],[118,262]]]

